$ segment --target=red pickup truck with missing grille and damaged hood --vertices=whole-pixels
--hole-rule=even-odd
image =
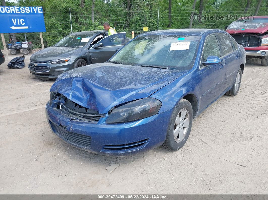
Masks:
[[[261,58],[262,65],[268,66],[268,16],[240,18],[231,23],[226,32],[245,48],[247,56]]]

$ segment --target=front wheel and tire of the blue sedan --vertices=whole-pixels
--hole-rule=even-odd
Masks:
[[[174,107],[162,147],[177,151],[186,143],[192,128],[193,109],[191,103],[181,99]]]

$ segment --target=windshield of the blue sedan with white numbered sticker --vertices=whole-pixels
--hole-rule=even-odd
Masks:
[[[111,61],[188,70],[193,66],[199,41],[200,36],[139,36],[125,45]]]

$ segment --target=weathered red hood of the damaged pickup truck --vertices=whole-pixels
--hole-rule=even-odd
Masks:
[[[245,29],[245,30],[241,30]],[[268,31],[268,23],[244,23],[244,22],[233,22],[231,23],[226,32],[229,34],[234,33],[260,33],[263,34]]]

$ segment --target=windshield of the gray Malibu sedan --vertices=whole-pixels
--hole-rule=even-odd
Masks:
[[[93,34],[92,34],[93,35]],[[62,40],[60,40],[55,46],[57,47],[83,47],[87,44],[87,42],[92,38],[90,34],[72,34],[66,36]]]

